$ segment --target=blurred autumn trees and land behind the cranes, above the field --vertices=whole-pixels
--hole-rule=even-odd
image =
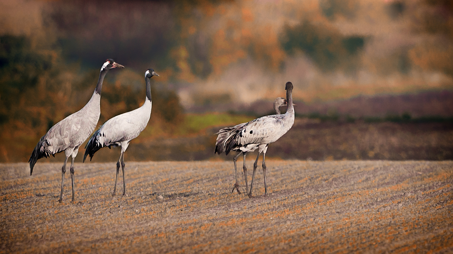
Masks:
[[[231,159],[215,133],[271,114],[287,81],[296,120],[267,157],[453,159],[449,0],[0,0],[0,42],[0,162],[27,162],[108,58],[126,68],[107,74],[99,125],[160,75],[128,161]]]

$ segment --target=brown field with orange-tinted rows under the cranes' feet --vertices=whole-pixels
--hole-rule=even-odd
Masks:
[[[61,204],[62,163],[0,164],[0,253],[453,252],[451,161],[268,160],[253,199],[216,161],[126,162],[112,197],[115,164],[76,163]]]

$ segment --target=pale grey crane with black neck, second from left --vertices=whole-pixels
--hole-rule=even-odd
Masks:
[[[101,126],[91,136],[90,140],[85,147],[85,155],[83,156],[83,162],[90,155],[90,161],[93,158],[94,153],[104,147],[111,146],[121,147],[121,154],[118,162],[116,163],[116,179],[115,188],[113,189],[112,196],[116,193],[116,182],[118,181],[118,173],[121,169],[123,171],[123,195],[126,195],[126,182],[124,175],[124,152],[129,146],[129,142],[135,139],[146,127],[151,115],[151,77],[159,76],[154,72],[154,69],[148,69],[145,72],[145,83],[146,83],[146,98],[143,106],[121,115],[117,115],[107,120],[104,125]]]

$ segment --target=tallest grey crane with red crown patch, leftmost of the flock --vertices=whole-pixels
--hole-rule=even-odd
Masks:
[[[65,153],[65,160],[61,169],[61,193],[58,202],[63,199],[64,173],[66,172],[66,163],[69,156],[71,161],[71,181],[72,181],[72,202],[74,202],[74,159],[79,151],[79,146],[92,134],[96,128],[99,115],[101,115],[101,89],[102,82],[110,69],[124,68],[123,65],[115,63],[112,59],[107,59],[101,67],[99,80],[97,81],[96,89],[90,101],[81,110],[67,116],[65,119],[53,125],[49,131],[41,137],[38,144],[34,148],[29,162],[30,175],[33,173],[34,164],[42,157],[55,157],[55,153]]]

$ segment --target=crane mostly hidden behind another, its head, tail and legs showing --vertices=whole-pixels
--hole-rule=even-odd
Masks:
[[[280,115],[280,107],[281,106],[285,106],[287,105],[286,103],[286,100],[282,97],[277,97],[274,101],[274,110],[275,110],[275,115]],[[293,104],[294,106],[296,106],[295,104]],[[231,136],[231,133],[234,132],[234,130],[238,129],[238,128],[241,128],[242,126],[246,125],[247,123],[242,123],[242,124],[239,124],[239,125],[235,125],[233,127],[226,127],[226,128],[223,128],[223,129],[220,129],[216,134],[218,134],[217,136],[217,140],[216,140],[216,150],[214,151],[214,154],[217,152],[218,154],[221,154],[223,152],[223,150],[225,150],[225,144],[226,144],[226,141],[228,140],[228,138]],[[250,150],[248,151],[241,151],[241,149],[239,147],[236,147],[235,149],[233,149],[233,151],[239,151],[236,156],[233,158],[233,162],[234,162],[234,171],[235,171],[235,176],[236,176],[236,183],[233,185],[233,189],[231,190],[231,193],[233,193],[233,191],[236,189],[237,190],[237,193],[238,194],[241,194],[241,191],[239,190],[239,183],[237,182],[237,167],[236,167],[236,161],[237,161],[237,158],[239,157],[239,155],[241,155],[241,153],[243,154],[244,156],[244,166],[242,167],[243,170],[244,170],[244,178],[246,180],[246,192],[248,193],[249,192],[249,187],[248,187],[248,183],[247,183],[247,167],[246,167],[246,154],[247,152],[253,152],[257,149],[258,147],[255,146],[254,148],[251,148]],[[228,155],[228,152],[226,152],[226,155]]]

